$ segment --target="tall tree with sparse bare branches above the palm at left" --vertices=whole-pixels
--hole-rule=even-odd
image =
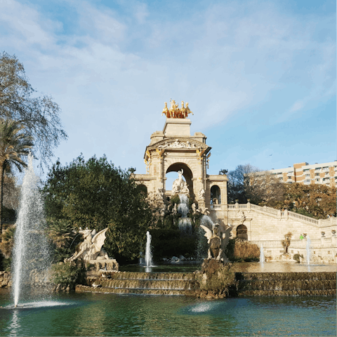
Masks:
[[[25,126],[26,133],[34,138],[40,166],[51,159],[60,140],[67,138],[60,122],[60,107],[51,96],[37,97],[22,63],[5,52],[0,54],[0,117]]]

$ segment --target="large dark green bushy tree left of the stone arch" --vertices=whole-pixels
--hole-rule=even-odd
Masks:
[[[128,171],[117,169],[106,157],[84,161],[80,156],[66,166],[57,161],[42,192],[53,220],[68,221],[76,230],[109,227],[104,248],[110,256],[139,256],[152,212]]]

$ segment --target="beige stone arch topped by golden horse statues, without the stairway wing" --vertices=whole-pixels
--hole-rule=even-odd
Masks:
[[[227,223],[227,176],[209,175],[207,169],[211,147],[206,144],[204,133],[190,134],[192,113],[186,103],[178,108],[175,101],[165,107],[163,131],[151,135],[144,154],[146,174],[134,174],[138,183],[147,187],[147,193],[162,195],[164,200],[172,197],[172,186],[166,185],[166,173],[182,172],[190,198],[201,209],[208,208],[212,218]]]

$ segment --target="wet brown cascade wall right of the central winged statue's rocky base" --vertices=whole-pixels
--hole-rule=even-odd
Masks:
[[[238,296],[336,296],[336,272],[236,273]]]

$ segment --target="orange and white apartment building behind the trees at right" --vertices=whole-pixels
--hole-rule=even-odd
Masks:
[[[276,175],[282,183],[337,186],[337,160],[330,163],[315,163],[312,165],[298,163],[286,169],[271,169],[269,172]]]

